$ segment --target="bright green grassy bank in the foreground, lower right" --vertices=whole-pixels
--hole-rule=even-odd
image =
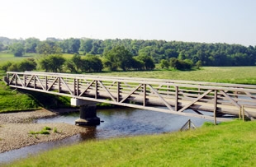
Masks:
[[[255,166],[256,122],[88,141],[10,166]]]

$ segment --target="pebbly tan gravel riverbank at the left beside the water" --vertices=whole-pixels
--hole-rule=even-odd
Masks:
[[[57,141],[87,131],[86,128],[68,123],[32,123],[33,119],[56,115],[46,109],[0,114],[0,153],[40,142]],[[51,128],[50,134],[30,134],[40,132],[45,127]]]

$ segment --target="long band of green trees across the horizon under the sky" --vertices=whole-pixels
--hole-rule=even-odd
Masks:
[[[48,38],[40,41],[36,38],[0,37],[0,51],[6,49],[12,51],[17,57],[24,53],[45,55],[45,64],[40,63],[40,67],[44,67],[45,71],[52,70],[48,67],[52,65],[46,63],[52,61],[52,55],[62,53],[76,55],[72,60],[63,61],[70,72],[99,72],[103,67],[111,71],[151,70],[154,69],[156,63],[160,63],[160,67],[163,68],[177,69],[191,69],[193,66],[256,65],[256,46],[246,47],[241,44],[88,38]],[[49,55],[51,55],[50,60],[46,58]],[[55,71],[59,69],[56,68]]]

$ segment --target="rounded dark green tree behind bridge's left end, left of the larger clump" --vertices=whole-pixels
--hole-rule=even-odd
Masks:
[[[58,54],[51,54],[40,59],[40,67],[45,69],[45,72],[61,72],[65,59]]]

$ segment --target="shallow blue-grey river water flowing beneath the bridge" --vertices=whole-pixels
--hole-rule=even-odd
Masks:
[[[188,111],[189,112],[189,111]],[[102,123],[97,127],[86,127],[88,132],[68,137],[60,141],[51,141],[26,146],[21,149],[7,151],[0,154],[1,163],[26,158],[41,151],[47,151],[59,146],[72,145],[81,141],[99,140],[111,137],[128,137],[145,134],[159,134],[175,132],[183,127],[188,119],[197,127],[208,121],[202,118],[190,118],[175,114],[165,114],[144,109],[97,109],[97,116]],[[70,123],[74,124],[79,114],[59,115],[55,118],[41,118],[36,123]]]

